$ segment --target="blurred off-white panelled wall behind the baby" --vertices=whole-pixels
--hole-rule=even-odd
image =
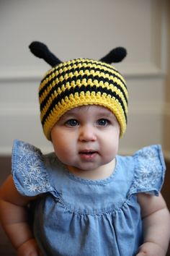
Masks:
[[[162,144],[164,109],[169,107],[164,102],[164,1],[1,1],[0,31],[0,154],[11,153],[15,138],[43,152],[52,148],[42,134],[37,103],[38,85],[50,66],[30,54],[32,40],[46,43],[62,61],[100,59],[112,48],[125,46],[127,58],[115,64],[130,92],[128,130],[120,153]]]

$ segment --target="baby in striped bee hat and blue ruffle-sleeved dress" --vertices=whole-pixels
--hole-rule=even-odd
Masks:
[[[169,210],[160,194],[160,145],[117,155],[128,90],[113,61],[61,62],[42,43],[33,54],[52,69],[39,90],[45,137],[54,153],[14,141],[12,175],[1,187],[0,218],[18,256],[165,256]],[[30,218],[33,213],[33,224]]]

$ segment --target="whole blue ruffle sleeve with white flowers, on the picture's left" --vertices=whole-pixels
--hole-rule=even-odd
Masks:
[[[12,175],[20,194],[35,196],[53,191],[41,151],[26,142],[14,140]]]

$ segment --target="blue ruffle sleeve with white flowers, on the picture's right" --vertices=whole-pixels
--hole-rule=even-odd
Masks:
[[[161,145],[151,145],[138,150],[133,158],[135,170],[129,196],[140,192],[158,196],[166,170]]]

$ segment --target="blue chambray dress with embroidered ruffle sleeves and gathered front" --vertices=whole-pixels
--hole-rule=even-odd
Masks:
[[[22,195],[44,193],[36,201],[34,234],[45,256],[132,256],[143,242],[139,192],[158,195],[165,163],[160,145],[116,157],[107,179],[70,174],[54,153],[42,155],[15,140],[14,183]]]

